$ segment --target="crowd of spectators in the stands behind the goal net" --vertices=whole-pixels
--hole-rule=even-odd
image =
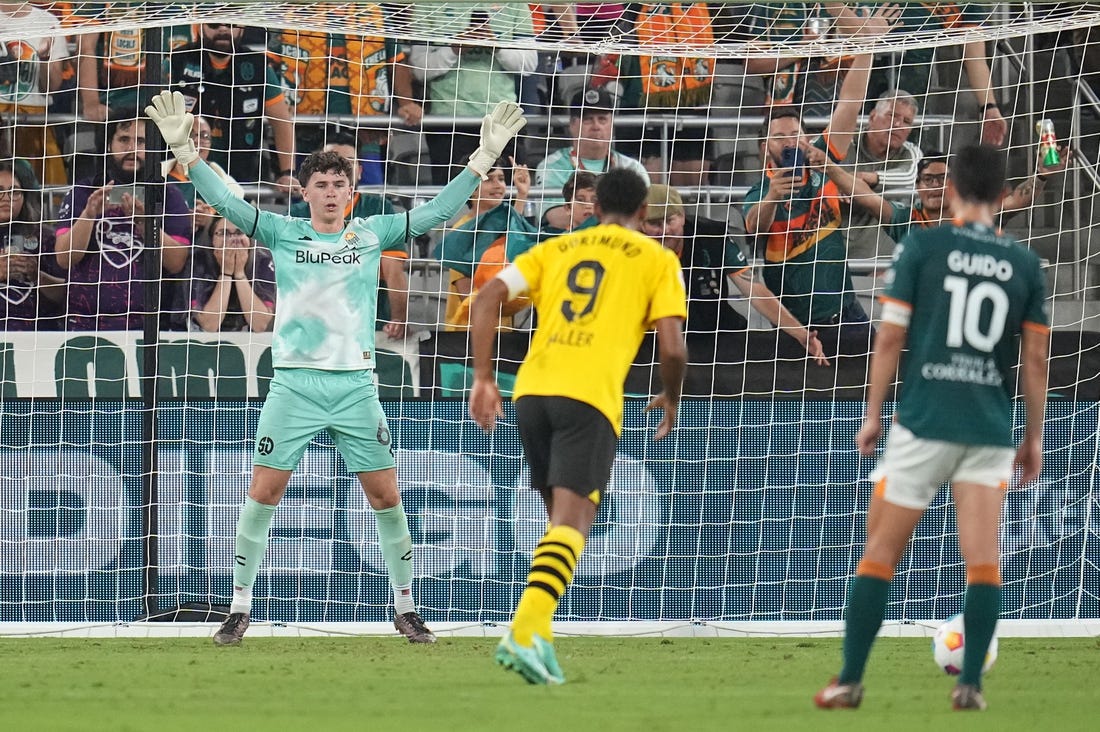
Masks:
[[[947,214],[936,208],[946,157],[931,151],[922,116],[954,117],[959,133],[949,125],[946,139],[955,146],[1008,142],[1009,100],[997,96],[981,42],[883,55],[866,69],[850,57],[660,55],[670,37],[703,48],[730,29],[783,41],[981,23],[989,10],[969,6],[908,3],[893,14],[845,3],[319,6],[374,28],[387,28],[387,13],[422,13],[414,22],[448,39],[433,43],[226,23],[66,37],[64,13],[80,3],[51,10],[63,13],[54,33],[0,50],[8,330],[140,329],[150,312],[165,330],[272,328],[271,254],[213,215],[185,167],[150,154],[139,110],[164,86],[187,98],[200,156],[235,194],[299,216],[295,174],[310,152],[351,161],[360,190],[345,216],[366,217],[409,209],[450,179],[477,145],[476,120],[497,102],[518,101],[542,120],[509,144],[459,218],[384,253],[378,329],[392,338],[466,327],[479,283],[538,241],[592,226],[598,176],[628,167],[656,184],[646,231],[681,258],[689,338],[736,335],[756,310],[818,362],[867,353],[873,329],[847,263],[888,256],[908,228]],[[15,25],[46,12],[0,2]],[[150,33],[160,33],[156,53]],[[637,54],[509,47],[608,34]],[[950,58],[966,81],[937,88],[937,67]],[[163,84],[147,83],[157,64]],[[52,114],[76,123],[33,123]],[[663,116],[674,123],[654,121]],[[759,134],[739,134],[738,117],[763,117]],[[854,136],[847,159],[829,154],[838,134]],[[1034,174],[1002,215],[1031,206],[1070,159],[1060,149],[1057,162],[1018,161]],[[725,196],[704,208],[715,188]],[[153,210],[163,212],[155,230],[145,225]],[[160,303],[146,302],[144,286],[150,232],[160,238]],[[439,307],[414,317],[410,288]],[[525,329],[530,319],[509,313],[501,326]]]

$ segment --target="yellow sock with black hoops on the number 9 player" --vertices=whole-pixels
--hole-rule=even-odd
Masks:
[[[512,635],[520,645],[531,645],[535,634],[553,640],[550,621],[558,601],[573,581],[576,560],[584,550],[584,535],[572,526],[552,526],[535,547],[527,589],[512,619]]]

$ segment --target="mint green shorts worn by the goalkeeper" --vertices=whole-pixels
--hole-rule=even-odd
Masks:
[[[328,430],[350,472],[395,465],[373,371],[275,369],[256,425],[253,462],[294,470],[321,430]]]

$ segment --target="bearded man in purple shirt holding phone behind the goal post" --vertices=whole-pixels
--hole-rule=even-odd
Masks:
[[[57,264],[68,273],[70,330],[135,330],[157,304],[145,303],[144,187],[145,121],[133,110],[119,112],[107,124],[102,172],[78,181],[57,212]],[[164,189],[161,263],[178,274],[190,253],[191,217],[176,188]],[[175,302],[170,285],[162,287],[162,304]],[[170,308],[160,307],[167,313]]]

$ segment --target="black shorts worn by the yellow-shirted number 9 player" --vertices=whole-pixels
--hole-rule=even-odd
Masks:
[[[521,396],[516,423],[531,488],[566,488],[596,505],[607,488],[618,437],[604,414],[566,396]]]

